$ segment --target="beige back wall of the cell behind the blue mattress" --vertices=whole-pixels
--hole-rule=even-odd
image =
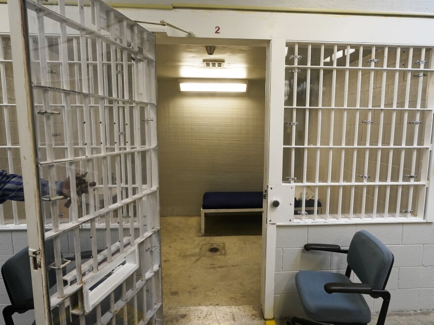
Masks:
[[[205,192],[262,191],[265,81],[216,95],[157,83],[161,215],[199,216]]]

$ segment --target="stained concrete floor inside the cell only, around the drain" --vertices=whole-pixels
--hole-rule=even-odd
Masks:
[[[161,218],[165,309],[260,304],[262,237],[236,235],[254,233],[257,227],[260,234],[260,218],[256,226],[249,217],[244,226],[232,219],[226,216],[218,224],[218,217],[209,218],[207,232],[219,235],[200,236],[200,217]],[[211,247],[218,252],[209,252]]]

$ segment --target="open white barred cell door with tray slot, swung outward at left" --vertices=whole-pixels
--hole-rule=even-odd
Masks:
[[[101,0],[8,10],[36,323],[162,324],[155,37]]]

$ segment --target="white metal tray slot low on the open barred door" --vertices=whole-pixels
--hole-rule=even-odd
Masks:
[[[122,265],[122,263],[124,263]],[[109,265],[98,271],[83,284],[84,310],[89,313],[98,305],[110,292],[124,282],[135,270],[139,268],[139,250],[137,245],[113,260]],[[111,275],[99,283],[105,276]],[[98,284],[95,288],[91,290]]]

